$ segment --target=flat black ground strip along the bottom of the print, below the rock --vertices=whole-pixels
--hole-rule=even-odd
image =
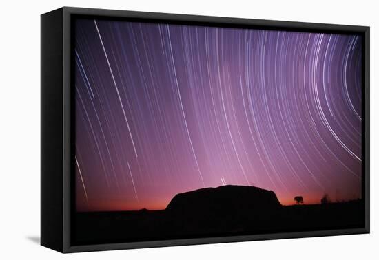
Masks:
[[[172,210],[76,213],[76,244],[151,241],[274,232],[360,228],[361,200],[330,204],[280,206],[267,212],[191,214]]]

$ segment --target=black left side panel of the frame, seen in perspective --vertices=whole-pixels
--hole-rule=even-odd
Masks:
[[[62,8],[41,15],[41,245],[62,248]]]

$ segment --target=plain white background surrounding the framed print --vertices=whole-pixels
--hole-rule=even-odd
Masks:
[[[374,0],[2,1],[1,259],[378,259],[379,6]],[[40,17],[61,6],[371,26],[371,234],[59,254],[39,246]]]

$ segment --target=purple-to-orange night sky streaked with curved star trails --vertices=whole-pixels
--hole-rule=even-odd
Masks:
[[[360,36],[78,19],[74,64],[76,210],[361,197]]]

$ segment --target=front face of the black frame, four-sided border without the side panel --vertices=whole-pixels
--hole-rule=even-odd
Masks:
[[[130,248],[152,248],[162,246],[185,246],[207,243],[225,243],[238,241],[256,241],[267,239],[290,239],[304,237],[323,237],[331,235],[354,235],[369,232],[369,27],[356,25],[336,25],[325,23],[301,23],[293,21],[268,21],[259,19],[242,19],[229,17],[207,17],[188,14],[164,14],[156,12],[135,12],[123,10],[103,10],[94,8],[63,7],[63,252],[84,252],[96,250],[119,250]],[[71,209],[72,197],[70,195],[72,182],[72,146],[71,120],[71,29],[72,15],[106,16],[106,17],[130,17],[140,19],[156,19],[167,21],[195,21],[199,23],[224,23],[231,25],[249,25],[257,27],[277,28],[275,30],[308,30],[308,31],[340,31],[361,34],[365,37],[365,227],[342,230],[320,230],[286,232],[263,235],[238,235],[231,237],[209,237],[196,239],[175,239],[163,241],[143,241],[133,243],[107,243],[74,246],[71,244]]]

